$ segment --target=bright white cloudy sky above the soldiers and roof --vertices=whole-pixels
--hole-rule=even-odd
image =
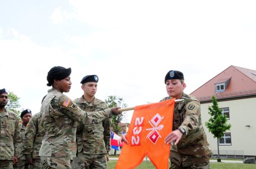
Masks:
[[[255,8],[256,1],[0,0],[0,89],[37,113],[48,71],[63,66],[72,69],[64,93],[71,99],[83,95],[84,76],[97,74],[96,98],[159,102],[169,70],[184,73],[189,94],[231,65],[256,70]]]

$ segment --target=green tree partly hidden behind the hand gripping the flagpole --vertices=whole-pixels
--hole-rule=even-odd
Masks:
[[[108,96],[108,99],[106,99],[105,102],[108,104],[109,108],[115,108],[115,107],[127,108],[127,104],[124,103],[124,100],[116,96]],[[122,131],[121,126],[119,126],[119,123],[122,121],[122,119],[124,119],[124,117],[125,117],[125,112],[122,112],[117,116],[112,116],[111,127],[113,128],[112,129],[113,132],[115,132],[116,134]],[[116,150],[114,152],[114,155],[116,155]]]

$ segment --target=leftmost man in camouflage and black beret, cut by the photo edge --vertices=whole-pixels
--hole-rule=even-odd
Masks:
[[[17,115],[5,109],[8,102],[6,89],[0,90],[0,168],[13,168],[18,162],[18,144],[20,140],[20,126]]]

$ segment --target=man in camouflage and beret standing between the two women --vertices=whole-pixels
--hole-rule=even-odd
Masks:
[[[94,97],[97,92],[96,75],[87,75],[81,80],[81,88],[84,95],[75,99],[74,102],[89,116],[94,115],[94,111],[102,111],[108,108],[108,105],[100,99]],[[78,157],[72,161],[72,168],[108,168],[110,151],[110,122],[111,118],[95,118],[90,125],[78,126],[77,131],[77,149]]]

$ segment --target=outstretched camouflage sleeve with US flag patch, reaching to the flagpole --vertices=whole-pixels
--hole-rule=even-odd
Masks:
[[[53,99],[53,102],[55,102],[55,99]],[[55,103],[52,103],[52,104],[55,104]],[[103,121],[104,119],[110,117],[110,109],[97,111],[94,113],[94,117],[90,117],[87,115],[87,112],[80,109],[75,104],[75,102],[73,102],[71,99],[69,99],[65,95],[62,95],[58,99],[58,106],[62,113],[65,113],[65,115],[69,116],[69,118],[73,119],[76,122],[79,122],[80,124],[91,124],[91,122],[93,121],[93,118]]]

